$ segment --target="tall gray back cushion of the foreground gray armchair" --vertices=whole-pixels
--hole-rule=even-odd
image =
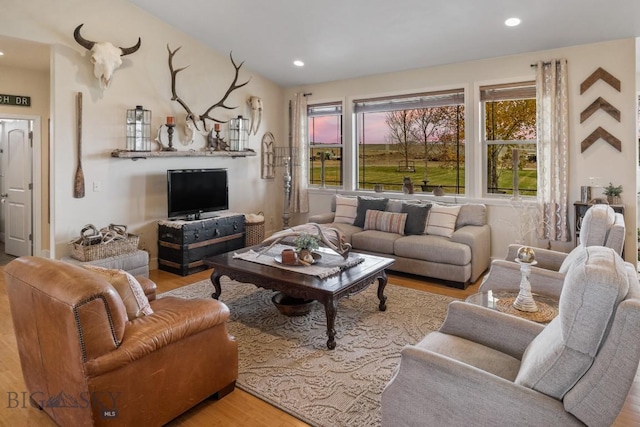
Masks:
[[[557,399],[589,369],[617,306],[629,290],[624,261],[610,248],[592,246],[569,267],[559,314],[531,341],[516,383]]]

